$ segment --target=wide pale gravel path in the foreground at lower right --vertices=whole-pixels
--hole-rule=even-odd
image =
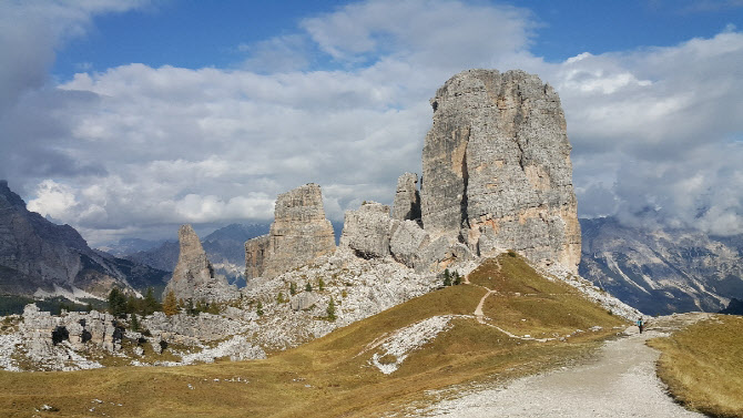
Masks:
[[[644,343],[706,317],[686,314],[651,323],[643,334],[608,341],[598,359],[470,392],[432,407],[426,417],[704,417],[673,402],[655,376],[659,351]]]

